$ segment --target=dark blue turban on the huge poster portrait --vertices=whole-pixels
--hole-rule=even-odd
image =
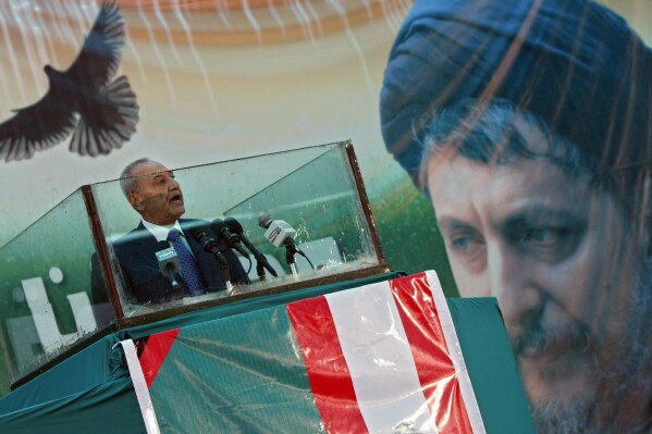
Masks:
[[[467,98],[502,98],[595,161],[652,168],[652,51],[587,0],[417,0],[390,52],[385,145],[417,179],[423,120]]]

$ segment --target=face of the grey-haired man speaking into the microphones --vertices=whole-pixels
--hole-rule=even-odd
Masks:
[[[173,224],[183,213],[183,194],[174,174],[159,163],[136,166],[132,176],[138,176],[130,203],[143,219],[158,225]]]

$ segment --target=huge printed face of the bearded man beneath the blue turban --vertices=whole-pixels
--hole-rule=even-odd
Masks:
[[[640,246],[612,196],[543,159],[433,157],[428,187],[459,292],[497,298],[532,406],[613,397],[596,371],[628,351]]]

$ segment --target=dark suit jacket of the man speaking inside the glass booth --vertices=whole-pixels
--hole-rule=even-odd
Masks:
[[[201,245],[189,236],[188,227],[201,225],[207,234],[218,239],[208,226],[208,222],[193,219],[180,219],[179,224],[184,232],[186,241],[197,260],[197,265],[207,290],[214,293],[226,288],[222,278],[219,263],[211,255],[204,251]],[[230,265],[231,282],[233,284],[249,283],[247,274],[235,253],[221,244],[220,251]],[[123,288],[127,296],[133,296],[138,303],[157,303],[180,298],[172,288],[170,281],[163,276],[159,269],[156,251],[159,245],[153,235],[143,225],[121,237],[113,244],[113,250],[120,262]],[[120,278],[119,278],[120,282]]]

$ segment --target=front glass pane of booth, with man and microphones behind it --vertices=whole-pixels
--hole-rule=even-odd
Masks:
[[[119,181],[93,186],[127,318],[287,284],[310,286],[310,280],[379,265],[344,144],[176,169],[173,177],[165,172],[171,165],[149,164],[158,173],[147,169],[148,176],[133,178],[135,207]],[[287,264],[286,248],[272,245],[259,227],[261,212],[273,218],[273,227],[284,220],[296,230],[296,247],[315,269],[300,253]],[[142,223],[164,225],[179,216],[185,235],[179,246],[164,240],[168,230],[157,239]],[[248,260],[227,247],[225,235],[242,238]],[[276,277],[268,269],[259,280],[262,266],[247,244]],[[183,265],[188,250],[195,273]]]

